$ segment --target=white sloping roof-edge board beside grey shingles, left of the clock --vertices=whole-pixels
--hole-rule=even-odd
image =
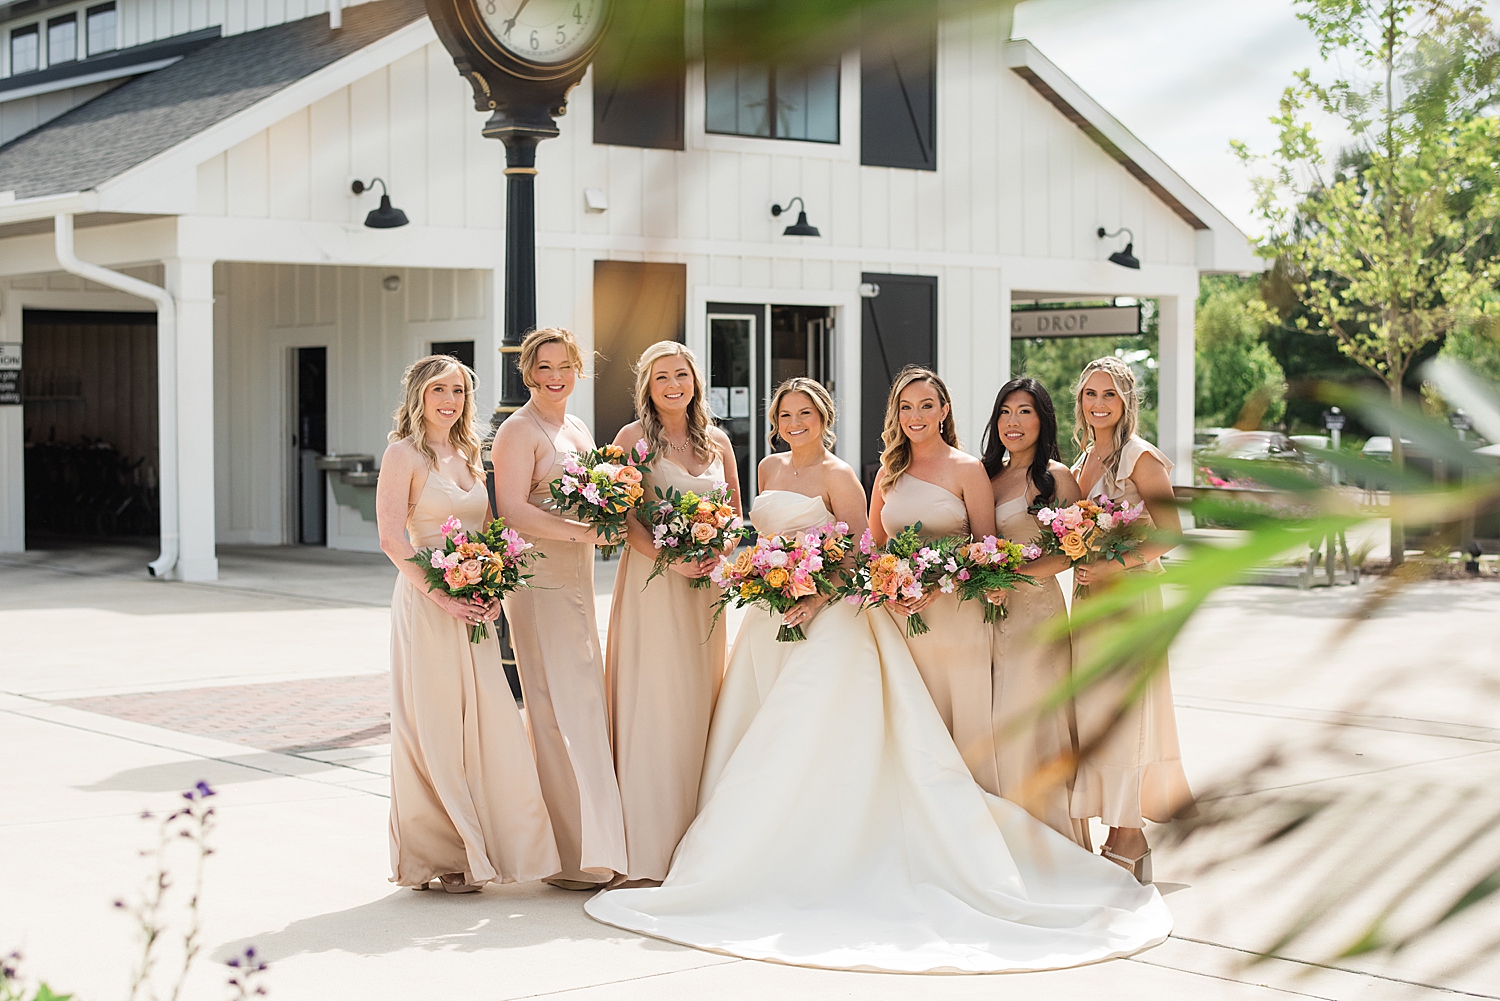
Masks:
[[[282,119],[438,41],[422,17],[99,185],[100,212],[182,212],[182,177]],[[160,207],[154,207],[156,203]]]

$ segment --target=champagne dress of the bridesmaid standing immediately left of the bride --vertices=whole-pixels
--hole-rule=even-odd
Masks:
[[[708,494],[723,479],[718,458],[699,476],[660,458],[642,485],[654,498],[657,488]],[[604,672],[626,816],[626,876],[660,882],[698,813],[708,723],[724,674],[724,621],[712,621],[717,587],[694,588],[670,569],[646,584],[652,563],[628,545],[621,549]]]

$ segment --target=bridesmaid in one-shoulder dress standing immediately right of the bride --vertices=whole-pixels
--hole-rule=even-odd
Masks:
[[[924,539],[993,536],[994,495],[984,464],[958,447],[948,387],[932,369],[909,365],[896,375],[880,434],[880,476],[870,497],[870,531],[885,545],[921,522]],[[978,602],[930,590],[892,614],[915,612],[932,627],[908,638],[912,660],[952,734],[964,764],[986,792],[1000,794],[990,720],[990,630]]]

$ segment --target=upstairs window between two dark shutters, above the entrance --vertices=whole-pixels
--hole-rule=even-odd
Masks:
[[[732,23],[752,0],[708,0],[705,17]],[[704,63],[704,128],[766,140],[838,141],[838,60],[744,62],[712,54]]]

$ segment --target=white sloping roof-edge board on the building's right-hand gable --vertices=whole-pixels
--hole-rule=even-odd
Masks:
[[[1250,239],[1224,213],[1136,138],[1028,39],[1005,44],[1005,66],[1026,80],[1106,153],[1197,230],[1197,264],[1204,272],[1262,272]]]

